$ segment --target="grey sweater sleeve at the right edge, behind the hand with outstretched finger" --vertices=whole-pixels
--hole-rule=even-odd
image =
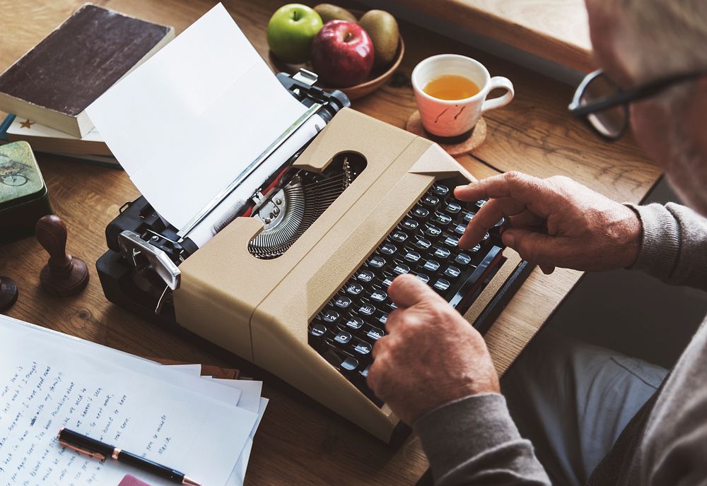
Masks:
[[[707,219],[674,203],[627,206],[643,225],[641,251],[631,268],[665,283],[707,290]]]

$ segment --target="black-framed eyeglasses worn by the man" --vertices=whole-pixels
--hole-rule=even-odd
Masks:
[[[657,95],[662,90],[670,88],[673,85],[676,85],[678,83],[684,83],[685,81],[692,81],[696,78],[700,78],[701,76],[705,75],[707,75],[706,70],[676,74],[673,76],[667,76],[666,78],[660,78],[655,81],[650,81],[650,83],[645,83],[644,85],[636,86],[636,88],[622,90],[621,88],[619,88],[619,85],[614,83],[614,81],[612,81],[612,79],[604,73],[602,69],[597,69],[597,71],[589,73],[582,80],[580,85],[577,87],[577,90],[575,90],[574,97],[572,98],[572,102],[570,103],[568,108],[570,110],[570,113],[573,114],[575,117],[583,117],[583,119],[592,127],[592,129],[598,135],[602,136],[603,138],[607,138],[611,141],[616,141],[621,138],[621,136],[624,134],[624,131],[626,131],[626,127],[629,125],[629,104],[631,104],[631,102],[644,100],[647,97]],[[588,85],[590,85],[592,81],[594,81],[600,76],[604,76],[607,81],[609,81],[609,83],[612,83],[612,85],[616,86],[617,94],[601,98],[600,100],[587,103],[586,105],[580,105],[580,102],[585,94],[585,91],[587,90]],[[621,127],[621,130],[615,136],[602,134],[602,132],[599,131],[594,126],[594,124],[592,124],[592,122],[587,119],[588,115],[592,113],[602,112],[605,109],[614,108],[619,105],[624,105],[626,121],[624,122],[624,126]]]

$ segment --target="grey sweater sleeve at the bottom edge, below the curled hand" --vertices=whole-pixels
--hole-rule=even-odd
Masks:
[[[413,424],[437,486],[549,485],[499,393],[442,405]]]

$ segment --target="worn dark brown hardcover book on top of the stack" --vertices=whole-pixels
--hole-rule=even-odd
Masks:
[[[84,4],[0,75],[0,109],[67,131],[65,123],[81,117],[105,90],[172,37],[174,29],[166,25]],[[27,105],[23,112],[18,109],[22,104]],[[37,116],[37,111],[54,113]]]

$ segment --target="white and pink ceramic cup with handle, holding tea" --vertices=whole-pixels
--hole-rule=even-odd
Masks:
[[[448,75],[464,76],[474,81],[479,93],[463,100],[440,100],[423,91],[433,79]],[[445,138],[463,138],[474,128],[481,114],[508,105],[515,95],[513,83],[508,78],[491,78],[484,64],[458,54],[439,54],[421,61],[412,71],[412,88],[422,126],[429,134]],[[486,100],[486,95],[496,88],[505,89],[506,94]]]

